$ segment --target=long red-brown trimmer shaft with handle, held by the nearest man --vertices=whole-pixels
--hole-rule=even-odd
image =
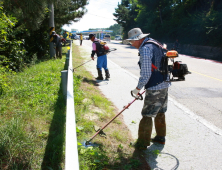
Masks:
[[[88,141],[85,142],[85,145],[91,145],[90,141],[93,140],[98,134],[104,135],[105,133],[103,132],[103,129],[105,129],[114,119],[116,119],[121,113],[123,113],[124,110],[128,109],[131,104],[133,104],[136,100],[143,100],[143,93],[145,93],[145,90],[140,94],[138,93],[138,96],[134,96],[132,91],[131,95],[135,98],[132,102],[130,102],[127,106],[124,106],[123,110],[119,112],[115,117],[113,117],[107,124],[105,124],[101,129],[98,129],[96,134],[93,135]]]

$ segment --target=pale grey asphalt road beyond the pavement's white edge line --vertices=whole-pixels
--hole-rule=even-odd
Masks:
[[[83,43],[92,45],[87,40]],[[111,41],[108,45],[110,48],[117,48],[108,58],[139,76],[138,50],[130,45],[122,45],[120,41]],[[222,129],[222,63],[182,54],[175,61],[187,64],[192,74],[186,75],[186,81],[172,83],[169,88],[170,97]]]

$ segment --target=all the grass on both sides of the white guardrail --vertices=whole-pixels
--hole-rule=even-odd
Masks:
[[[60,60],[45,60],[21,73],[6,74],[0,93],[0,169],[64,169],[65,112],[61,90],[66,48]],[[73,45],[74,67],[81,64],[78,46]],[[95,134],[116,113],[113,104],[96,87],[84,67],[74,72],[74,95],[78,141]],[[127,127],[119,116],[93,142],[98,147],[79,146],[81,170],[147,169],[129,144]]]

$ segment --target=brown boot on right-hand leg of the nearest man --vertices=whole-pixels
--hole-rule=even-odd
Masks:
[[[166,136],[166,120],[165,113],[158,113],[154,119],[156,137],[152,139],[152,142],[158,142],[160,144],[165,144]]]

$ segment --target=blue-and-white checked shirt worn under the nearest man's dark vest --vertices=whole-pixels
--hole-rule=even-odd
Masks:
[[[146,44],[143,46],[143,44],[148,41],[150,38],[145,38],[141,46],[139,47],[139,53],[140,53],[140,64],[141,64],[141,70],[140,70],[140,78],[137,85],[138,89],[142,89],[147,82],[149,81],[151,74],[152,74],[152,58],[153,53],[150,51],[149,47],[146,46]],[[167,78],[169,80],[169,77]],[[157,86],[149,87],[147,90],[161,90],[165,89],[171,86],[170,82],[162,82],[158,84]]]

